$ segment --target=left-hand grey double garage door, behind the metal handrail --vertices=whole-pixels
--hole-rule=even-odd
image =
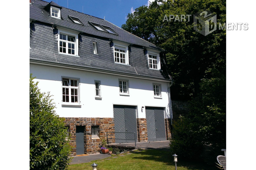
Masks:
[[[138,141],[137,135],[137,120],[136,120],[136,107],[114,105],[114,123],[115,132],[134,132],[136,142]],[[133,133],[115,133],[116,143],[134,142]]]

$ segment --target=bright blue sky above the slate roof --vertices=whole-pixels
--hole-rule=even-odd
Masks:
[[[51,2],[51,0],[46,0]],[[112,22],[118,27],[126,22],[126,16],[142,5],[148,5],[149,0],[53,0],[62,7],[84,12]],[[152,1],[152,0],[150,0]],[[67,3],[68,2],[68,3]]]

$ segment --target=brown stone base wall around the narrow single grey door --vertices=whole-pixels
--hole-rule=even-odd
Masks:
[[[70,141],[72,147],[71,156],[76,156],[76,126],[84,126],[84,149],[85,154],[99,153],[100,142],[107,139],[106,132],[114,132],[114,118],[65,118],[65,126],[69,126]],[[99,126],[99,137],[92,138],[92,126]],[[108,137],[115,138],[115,134],[108,134]],[[115,143],[115,139],[109,140]]]

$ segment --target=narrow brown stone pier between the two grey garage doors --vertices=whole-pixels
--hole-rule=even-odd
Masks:
[[[137,118],[138,142],[148,141],[146,118]]]

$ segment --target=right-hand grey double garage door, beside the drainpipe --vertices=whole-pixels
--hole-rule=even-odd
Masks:
[[[164,108],[146,107],[148,141],[165,141]]]

